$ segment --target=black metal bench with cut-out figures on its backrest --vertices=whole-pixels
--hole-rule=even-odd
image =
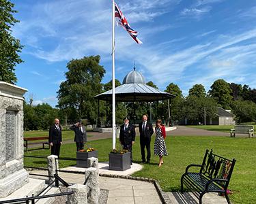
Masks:
[[[202,203],[203,195],[207,192],[224,194],[230,204],[227,186],[233,172],[236,160],[229,160],[206,150],[201,165],[191,164],[186,167],[186,172],[181,178],[181,191],[184,192],[184,184]],[[200,167],[199,171],[189,171],[190,167]]]

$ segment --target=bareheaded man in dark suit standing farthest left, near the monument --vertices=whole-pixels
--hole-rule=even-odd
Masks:
[[[53,126],[49,129],[49,144],[51,146],[51,154],[59,157],[59,151],[62,143],[61,126],[59,119],[55,118]]]

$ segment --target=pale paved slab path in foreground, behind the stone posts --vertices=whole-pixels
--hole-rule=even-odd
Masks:
[[[31,171],[31,173],[46,175],[47,171]],[[83,184],[85,182],[85,175],[83,174],[59,172],[59,176],[72,184]],[[42,177],[34,175],[30,175],[30,177],[42,179]],[[100,188],[109,192],[106,204],[161,203],[156,188],[152,183],[112,177],[100,177],[99,179]]]

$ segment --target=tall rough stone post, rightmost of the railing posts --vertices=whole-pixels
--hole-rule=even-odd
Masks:
[[[98,169],[90,167],[85,170],[85,185],[88,190],[88,203],[98,204],[100,197],[100,184]]]

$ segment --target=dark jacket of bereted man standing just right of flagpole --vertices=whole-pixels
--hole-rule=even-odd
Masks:
[[[120,127],[119,141],[123,144],[131,144],[135,141],[135,127],[133,124],[129,124],[126,130],[124,130],[124,124]]]

